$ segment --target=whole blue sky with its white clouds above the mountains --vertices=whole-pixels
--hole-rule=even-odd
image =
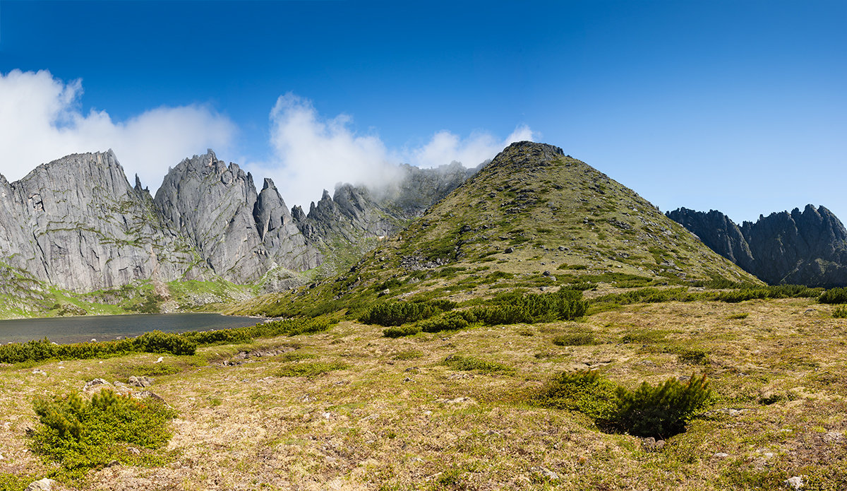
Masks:
[[[211,147],[307,205],[532,137],[662,210],[847,219],[845,25],[814,0],[0,0],[0,172],[105,146],[155,189]]]

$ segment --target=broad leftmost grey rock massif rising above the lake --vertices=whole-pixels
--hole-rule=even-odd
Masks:
[[[76,292],[140,279],[208,275],[191,245],[130,187],[111,150],[39,165],[0,180],[0,253],[39,281]]]

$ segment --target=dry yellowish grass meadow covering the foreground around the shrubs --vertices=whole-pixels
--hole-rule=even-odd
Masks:
[[[805,475],[807,489],[836,489],[847,485],[847,436],[840,436],[847,430],[847,320],[830,310],[806,299],[634,304],[584,322],[398,339],[344,322],[315,336],[166,357],[179,372],[156,377],[151,389],[180,412],[173,460],[160,468],[108,467],[74,485],[701,491],[767,489]],[[598,343],[552,343],[575,331],[592,332]],[[628,334],[631,342],[623,343]],[[294,351],[220,363],[241,349],[283,345]],[[685,362],[693,352],[707,354],[706,363]],[[314,357],[292,360],[291,353]],[[441,364],[449,354],[515,371],[453,371]],[[33,397],[79,391],[94,377],[126,382],[157,357],[39,365],[47,376],[33,374],[33,366],[0,368],[0,473],[47,471],[26,445],[26,428],[37,424]],[[284,366],[315,362],[346,368],[280,377]],[[601,432],[579,413],[529,404],[551,375],[579,368],[630,387],[706,372],[717,400],[688,432],[650,452],[639,438]]]

